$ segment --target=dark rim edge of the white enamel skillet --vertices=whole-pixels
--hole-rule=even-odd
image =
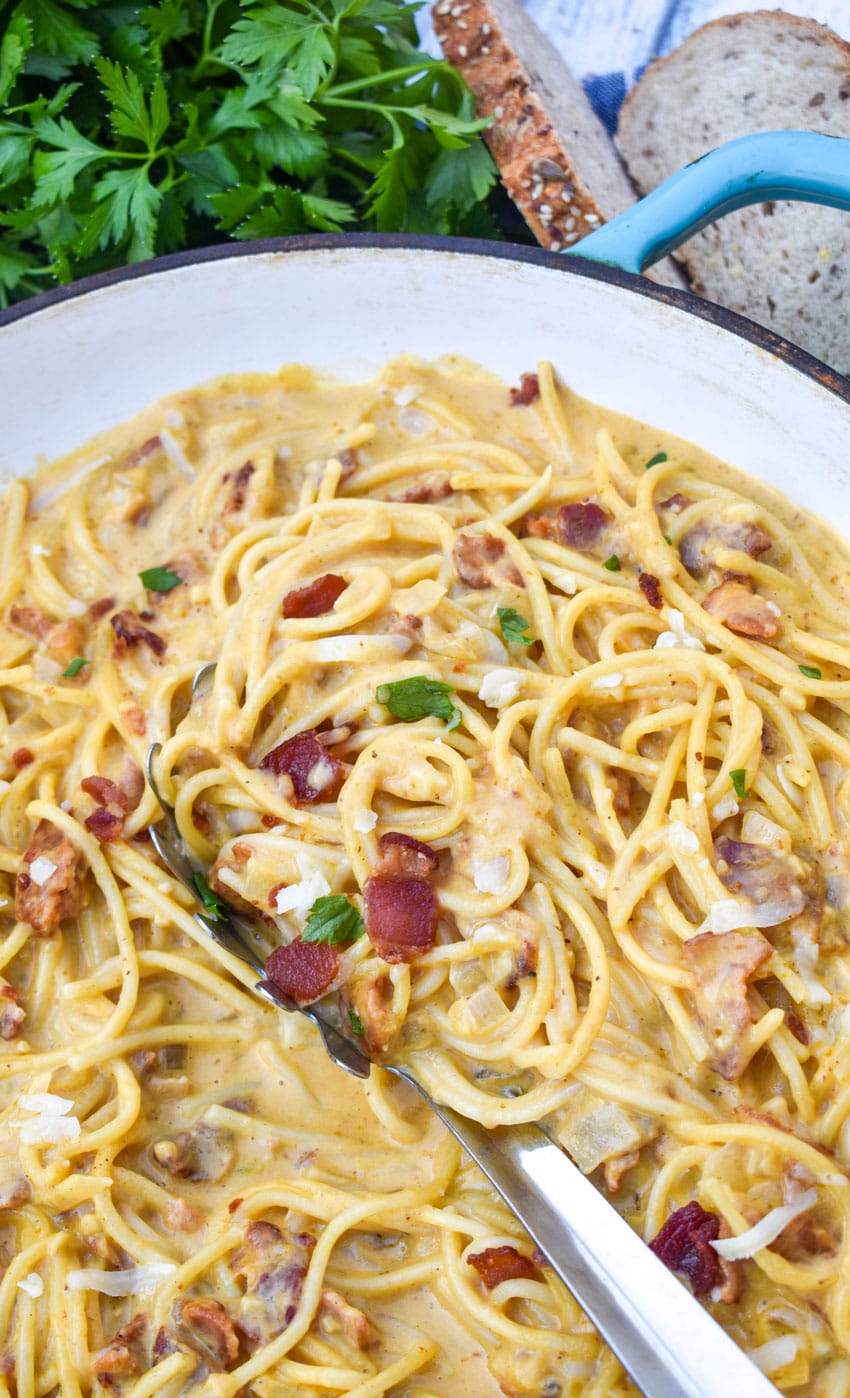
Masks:
[[[180,253],[168,253],[164,257],[154,257],[148,261],[131,263],[127,267],[113,267],[109,271],[84,277],[80,281],[69,282],[64,287],[55,287],[42,291],[36,296],[20,301],[14,306],[0,310],[0,329],[11,326],[27,316],[36,315],[50,306],[57,306],[64,301],[84,296],[89,291],[102,291],[123,281],[136,281],[140,277],[155,275],[161,271],[173,271],[179,267],[190,267],[197,263],[222,261],[228,257],[250,257],[256,253],[296,253],[320,252],[327,249],[411,249],[421,252],[454,253],[464,257],[489,257],[498,261],[533,263],[538,267],[548,267],[552,271],[565,271],[570,275],[587,277],[591,281],[603,281],[611,287],[621,287],[624,291],[636,292],[650,301],[658,301],[667,306],[675,306],[700,320],[720,326],[740,340],[765,350],[776,359],[814,379],[829,393],[850,404],[850,377],[830,369],[829,365],[816,359],[807,350],[791,344],[766,326],[748,320],[735,310],[717,306],[712,301],[691,291],[677,287],[664,287],[660,282],[649,281],[646,277],[636,277],[633,273],[622,271],[619,267],[608,267],[604,263],[586,261],[580,256],[551,253],[544,247],[527,247],[521,243],[488,242],[481,238],[446,238],[438,233],[299,233],[289,238],[263,238],[252,242],[215,243],[211,247],[192,247]]]

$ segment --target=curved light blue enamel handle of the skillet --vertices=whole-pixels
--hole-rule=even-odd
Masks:
[[[850,140],[818,131],[763,131],[727,141],[569,253],[640,273],[723,214],[769,199],[850,210]]]

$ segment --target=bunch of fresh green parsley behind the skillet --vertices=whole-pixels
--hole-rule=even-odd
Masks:
[[[0,0],[0,303],[224,238],[494,235],[407,0]]]

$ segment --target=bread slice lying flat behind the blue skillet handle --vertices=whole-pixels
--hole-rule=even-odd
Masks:
[[[758,10],[703,25],[653,63],[624,103],[617,143],[647,193],[723,141],[769,130],[850,136],[850,45],[814,20]],[[850,373],[850,214],[754,204],[678,256],[695,291]]]

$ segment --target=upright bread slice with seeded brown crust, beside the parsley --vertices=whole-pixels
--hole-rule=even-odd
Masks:
[[[502,183],[534,236],[570,247],[635,203],[611,137],[520,0],[438,0],[432,10],[446,59],[475,94]],[[684,285],[670,259],[658,281]]]

